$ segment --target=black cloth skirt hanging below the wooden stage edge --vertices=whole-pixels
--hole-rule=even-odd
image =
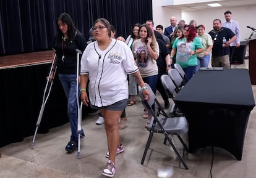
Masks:
[[[0,70],[0,147],[35,133],[49,67],[47,63]],[[93,111],[83,107],[83,116]],[[67,99],[56,76],[38,132],[46,133],[67,122]]]

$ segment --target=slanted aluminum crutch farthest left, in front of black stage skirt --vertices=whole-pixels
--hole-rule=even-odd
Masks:
[[[54,71],[53,78],[54,78],[55,73],[56,73],[57,67],[55,65],[55,60],[56,60],[56,53],[54,53],[53,62],[51,63],[51,69],[49,71],[49,75],[48,75],[46,86],[45,86],[45,92],[43,93],[43,103],[41,105],[40,113],[39,113],[39,116],[38,116],[38,119],[37,119],[35,134],[33,136],[32,142],[31,142],[31,147],[32,148],[35,145],[36,133],[37,133],[38,127],[40,126],[40,123],[41,123],[41,118],[43,116],[43,111],[45,110],[45,105],[46,105],[46,102],[47,102],[47,100],[49,98],[49,94],[51,92],[51,87],[53,86],[53,81],[51,81],[50,76],[51,76],[51,71]]]

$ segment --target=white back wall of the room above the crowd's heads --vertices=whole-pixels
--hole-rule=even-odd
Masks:
[[[224,12],[226,10],[231,10],[232,18],[238,22],[241,30],[241,41],[245,41],[245,38],[248,38],[252,33],[252,30],[246,27],[247,25],[256,28],[256,6],[182,11],[161,7],[161,1],[159,0],[152,0],[152,4],[153,21],[155,25],[161,24],[164,27],[169,26],[169,18],[171,16],[176,16],[178,21],[183,19],[186,23],[189,23],[190,20],[194,19],[197,21],[197,25],[205,25],[206,31],[208,32],[213,29],[212,23],[215,18],[224,20]]]

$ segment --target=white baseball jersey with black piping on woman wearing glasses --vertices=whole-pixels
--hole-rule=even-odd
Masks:
[[[132,51],[116,39],[112,39],[105,51],[99,49],[97,41],[92,42],[82,55],[80,74],[89,74],[90,103],[96,107],[128,99],[127,74],[136,71]]]

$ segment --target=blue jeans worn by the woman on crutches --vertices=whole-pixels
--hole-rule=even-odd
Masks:
[[[77,132],[77,75],[61,74],[59,73],[59,81],[61,81],[62,87],[67,97],[67,115],[69,116],[69,123],[71,127],[70,140],[78,140]],[[78,89],[78,97],[80,97],[80,86]]]

